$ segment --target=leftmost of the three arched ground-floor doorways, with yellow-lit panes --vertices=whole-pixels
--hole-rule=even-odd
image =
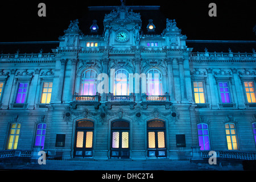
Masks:
[[[94,123],[80,120],[76,123],[75,156],[92,157]]]

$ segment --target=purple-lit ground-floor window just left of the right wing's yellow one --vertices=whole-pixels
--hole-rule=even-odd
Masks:
[[[208,125],[200,123],[197,125],[200,150],[210,150]]]

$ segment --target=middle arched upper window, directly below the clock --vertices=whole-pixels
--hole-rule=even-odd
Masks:
[[[115,71],[114,96],[129,95],[129,73],[125,69]]]

